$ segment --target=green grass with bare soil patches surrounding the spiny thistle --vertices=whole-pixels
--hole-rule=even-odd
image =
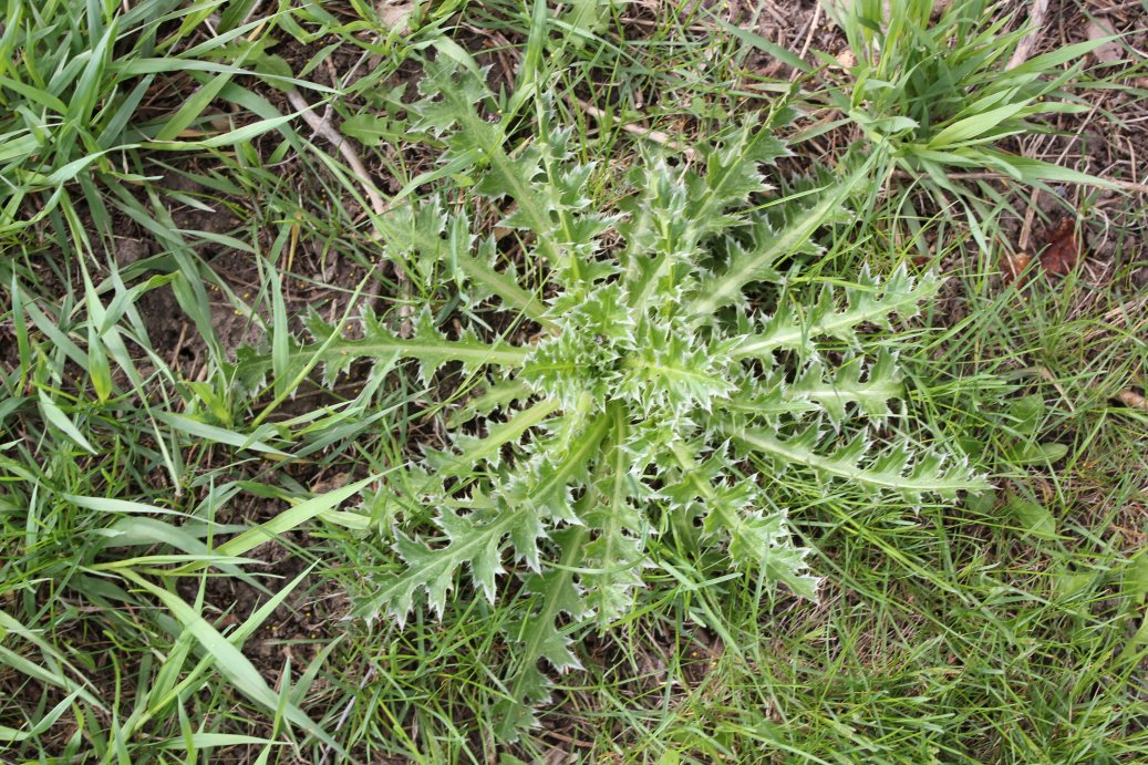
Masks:
[[[905,5],[915,25],[875,33],[866,6],[844,32],[819,25],[799,59],[797,22],[778,28],[778,52],[744,31],[763,11],[731,30],[727,9],[701,3],[572,3],[557,18],[430,3],[405,30],[365,2],[8,3],[0,762],[1143,760],[1148,414],[1114,396],[1142,392],[1148,369],[1146,221],[1135,196],[1075,185],[1135,181],[1120,175],[1134,156],[1114,145],[1109,169],[1084,164],[1071,109],[1038,100],[1099,105],[1135,140],[1143,64],[1030,60],[1034,90],[1008,98],[1035,124],[985,126],[956,164],[1007,172],[977,152],[1019,154],[1041,130],[1069,149],[1046,157],[1063,172],[1040,198],[1019,183],[1035,176],[955,196],[944,168],[889,149],[871,119],[920,126],[937,107],[917,45],[933,52],[930,77],[1000,87],[993,67],[1019,28],[1000,6],[982,23],[957,3],[930,26],[931,6]],[[833,63],[846,46],[856,69]],[[994,492],[913,508],[786,474],[825,578],[816,604],[666,534],[630,612],[577,635],[584,669],[556,678],[540,727],[496,736],[518,660],[506,631],[534,597],[513,578],[498,605],[463,588],[441,619],[347,618],[367,574],[398,570],[386,530],[432,515],[397,511],[379,477],[441,446],[440,412],[465,387],[362,362],[325,381],[277,345],[309,307],[342,325],[364,306],[401,320],[430,303],[448,324],[465,310],[490,337],[510,329],[459,296],[447,264],[380,245],[367,188],[414,209],[471,199],[465,170],[441,171],[442,147],[410,134],[420,56],[491,68],[507,148],[540,113],[572,126],[607,211],[612,179],[661,134],[689,145],[783,106],[801,116],[775,183],[889,152],[801,278],[906,262],[951,277],[908,327],[908,407],[926,423],[914,435],[954,439]],[[801,65],[768,74],[778,56]],[[292,90],[344,128],[370,178],[285,118]],[[947,91],[964,102],[946,114],[977,92]],[[1030,208],[1039,231],[1065,207],[1093,255],[1064,278],[1033,258],[1027,280],[1002,284]],[[494,230],[499,211],[480,212]],[[514,235],[499,242],[543,294]],[[262,341],[271,369],[254,380],[235,354]]]

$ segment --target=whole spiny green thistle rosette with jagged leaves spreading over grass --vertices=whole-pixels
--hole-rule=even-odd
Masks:
[[[587,188],[610,179],[576,162],[568,131],[542,124],[534,140],[504,146],[503,128],[481,111],[489,88],[445,62],[429,67],[420,90],[417,129],[473,164],[474,191],[522,232],[527,264],[551,296],[518,284],[492,240],[472,234],[466,222],[479,216],[463,209],[394,212],[381,226],[386,252],[419,272],[457,269],[474,296],[542,331],[512,343],[480,340],[468,325],[448,338],[433,318],[441,310],[428,308],[409,338],[367,315],[362,337],[349,339],[346,327],[312,319],[312,342],[292,341],[287,358],[321,366],[328,380],[354,358],[413,360],[425,384],[455,362],[486,387],[448,415],[467,433],[426,449],[425,473],[409,471],[418,480],[388,482],[397,505],[429,508],[434,525],[418,535],[394,530],[405,567],[372,580],[357,613],[400,624],[416,608],[442,615],[467,572],[495,601],[515,567],[519,612],[506,634],[519,652],[501,711],[505,735],[532,724],[546,672],[579,666],[572,638],[608,626],[641,597],[651,550],[674,549],[649,543],[656,530],[726,550],[739,571],[812,600],[817,579],[786,512],[807,497],[794,494],[801,481],[782,480],[786,471],[913,504],[986,486],[959,454],[890,433],[907,419],[890,417],[905,385],[895,334],[892,349],[864,353],[868,326],[912,318],[938,280],[863,270],[848,286],[805,293],[778,275],[779,262],[792,276],[802,260],[794,255],[821,250],[859,175],[833,184],[821,173],[820,185],[775,196],[762,212],[762,170],[786,149],[747,123],[699,147],[704,162],[649,159],[618,190],[615,215],[592,209]],[[783,295],[770,316],[746,308],[757,281],[773,285],[767,300]],[[245,353],[236,369],[255,377],[271,365]],[[898,446],[875,445],[876,426]],[[745,476],[762,462],[770,470]]]

